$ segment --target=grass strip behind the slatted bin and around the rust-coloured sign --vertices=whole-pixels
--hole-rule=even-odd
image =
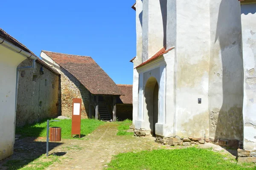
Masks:
[[[61,127],[61,138],[71,139],[71,119],[62,119],[60,122],[50,122],[50,127]],[[95,119],[81,119],[81,137],[92,133],[99,125],[104,122]],[[46,137],[47,120],[32,125],[25,125],[16,128],[16,134],[21,137]],[[78,138],[76,138],[78,139]]]

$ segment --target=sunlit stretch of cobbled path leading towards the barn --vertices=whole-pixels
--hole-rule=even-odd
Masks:
[[[153,137],[116,136],[117,125],[105,123],[88,136],[88,140],[64,140],[53,152],[67,152],[60,163],[54,163],[47,170],[102,170],[113,155],[123,152],[151,150],[162,145]],[[76,148],[76,149],[74,149]]]

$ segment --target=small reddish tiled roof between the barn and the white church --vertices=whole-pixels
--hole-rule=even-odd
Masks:
[[[123,104],[132,104],[132,85],[117,85],[122,92],[122,96],[120,96],[120,103]],[[117,102],[119,103],[119,102]]]

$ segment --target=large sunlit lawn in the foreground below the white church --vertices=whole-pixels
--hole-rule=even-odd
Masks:
[[[107,170],[255,170],[254,164],[237,164],[232,158],[209,149],[152,150],[120,153],[108,164]]]

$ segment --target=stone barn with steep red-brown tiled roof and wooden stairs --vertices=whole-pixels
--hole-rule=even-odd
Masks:
[[[92,57],[51,51],[42,51],[41,57],[61,74],[62,115],[70,117],[72,99],[81,98],[82,117],[115,121],[116,98],[122,92]]]

